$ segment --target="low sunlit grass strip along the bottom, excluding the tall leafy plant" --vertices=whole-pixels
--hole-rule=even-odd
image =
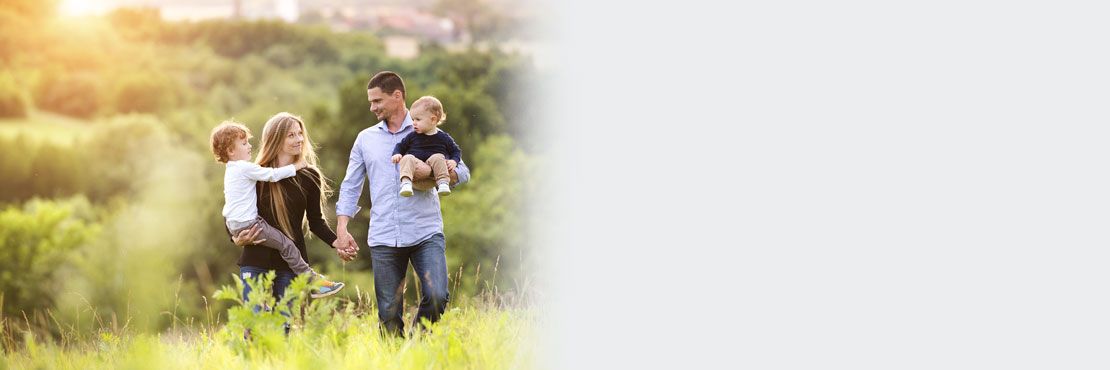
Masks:
[[[452,309],[431,332],[396,339],[379,334],[376,318],[339,314],[322,328],[252,342],[220,331],[103,333],[70,348],[24,340],[6,362],[14,369],[519,369],[534,367],[533,323],[528,311]]]

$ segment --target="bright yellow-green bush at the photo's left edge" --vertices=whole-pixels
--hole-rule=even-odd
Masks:
[[[0,291],[4,316],[52,307],[58,270],[99,228],[83,198],[33,200],[0,211]]]

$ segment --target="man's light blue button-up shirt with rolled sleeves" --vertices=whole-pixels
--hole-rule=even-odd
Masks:
[[[370,180],[370,232],[367,246],[412,247],[443,232],[440,196],[435,189],[413,190],[412,197],[401,197],[401,172],[390,160],[393,147],[413,132],[412,116],[405,114],[401,130],[390,132],[385,121],[377,122],[354,140],[347,172],[340,186],[335,204],[339,216],[354,217],[359,212],[359,196],[364,180]],[[458,183],[471,179],[471,170],[462,162],[455,168]]]

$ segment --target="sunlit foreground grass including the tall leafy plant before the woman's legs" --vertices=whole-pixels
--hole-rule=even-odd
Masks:
[[[290,307],[289,336],[280,312],[254,313],[238,299],[239,287],[223,287],[215,297],[236,301],[229,322],[190,326],[165,333],[117,333],[102,329],[82,339],[43,340],[23,331],[8,338],[4,367],[14,369],[521,369],[535,367],[537,316],[496,299],[475,298],[448,307],[426,331],[408,338],[384,334],[367,302],[340,299],[307,301],[307,283],[294,280],[282,302],[265,289],[251,302]],[[366,299],[369,300],[369,296]],[[363,301],[363,299],[360,299]],[[276,304],[276,306],[272,306]],[[342,308],[340,308],[342,306]],[[407,314],[408,318],[411,318]],[[244,329],[251,339],[244,340]],[[64,332],[62,336],[67,336]]]

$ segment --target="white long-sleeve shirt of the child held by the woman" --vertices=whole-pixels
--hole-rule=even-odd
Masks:
[[[259,217],[255,181],[274,182],[296,176],[296,167],[262,167],[251,161],[229,161],[223,172],[223,217],[228,221],[249,222]]]

